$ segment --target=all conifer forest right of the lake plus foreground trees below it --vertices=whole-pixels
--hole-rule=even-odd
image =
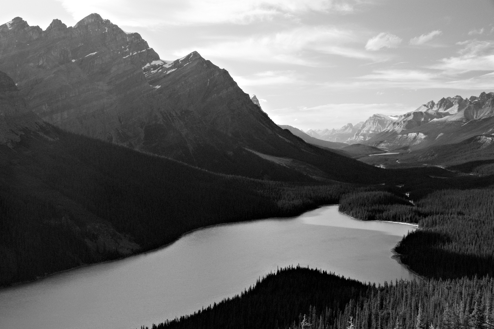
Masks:
[[[376,286],[286,268],[239,296],[152,328],[494,328],[494,189],[492,177],[483,180],[483,188],[459,179],[457,188],[373,187],[341,196],[339,210],[352,217],[418,223],[395,251],[424,280]]]

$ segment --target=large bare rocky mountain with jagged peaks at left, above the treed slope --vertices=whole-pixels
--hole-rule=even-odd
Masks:
[[[19,17],[1,25],[0,70],[48,123],[210,171],[281,181],[382,175],[278,127],[199,53],[162,60],[98,14],[45,31]]]

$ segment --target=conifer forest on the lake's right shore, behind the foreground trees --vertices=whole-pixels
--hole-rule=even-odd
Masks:
[[[418,223],[395,248],[426,277],[494,275],[494,189],[444,189],[415,200],[387,191],[343,195],[339,210],[358,219]]]

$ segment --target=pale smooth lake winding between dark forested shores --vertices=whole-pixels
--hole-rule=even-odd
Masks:
[[[338,206],[207,227],[153,252],[2,289],[0,328],[151,327],[238,294],[287,265],[365,282],[412,279],[391,249],[414,228],[352,219]]]

